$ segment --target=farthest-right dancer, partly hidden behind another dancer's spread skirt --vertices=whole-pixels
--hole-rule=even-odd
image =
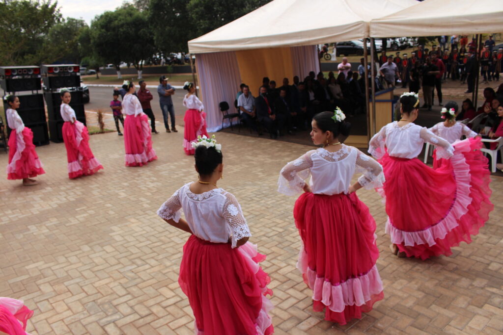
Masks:
[[[466,125],[456,122],[456,116],[458,115],[458,104],[455,101],[449,101],[445,104],[445,107],[442,108],[440,112],[441,118],[444,119],[444,122],[439,122],[429,130],[447,140],[450,144],[453,144],[456,141],[461,139],[461,136],[465,136],[466,138],[471,138],[477,136],[477,133],[472,131]],[[480,141],[480,139],[478,140]],[[446,164],[444,161],[445,158],[437,159],[437,151],[433,152],[433,168],[438,169],[442,164]]]

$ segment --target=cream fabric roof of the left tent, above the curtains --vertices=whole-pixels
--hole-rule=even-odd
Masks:
[[[189,41],[189,52],[200,54],[361,39],[369,36],[372,19],[415,4],[415,0],[274,0]],[[395,36],[406,36],[397,33]]]

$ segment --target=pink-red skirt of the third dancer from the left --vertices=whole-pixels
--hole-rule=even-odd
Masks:
[[[124,121],[124,146],[126,166],[142,166],[157,159],[152,148],[152,133],[145,114],[128,115]]]

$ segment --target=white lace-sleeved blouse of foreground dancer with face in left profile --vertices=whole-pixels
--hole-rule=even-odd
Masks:
[[[381,164],[355,147],[342,145],[336,152],[323,148],[310,150],[281,169],[278,192],[296,195],[303,191],[305,179],[315,194],[348,193],[355,172],[363,173],[358,182],[366,189],[381,187],[384,174]]]

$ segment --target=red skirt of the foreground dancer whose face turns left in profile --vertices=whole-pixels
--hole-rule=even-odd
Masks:
[[[340,324],[361,318],[384,297],[368,207],[355,193],[304,193],[293,214],[303,242],[297,267],[313,290],[313,309]]]

